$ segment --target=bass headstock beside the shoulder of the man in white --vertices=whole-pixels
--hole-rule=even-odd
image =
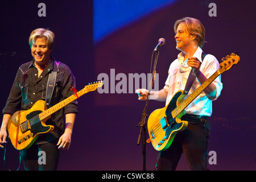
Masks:
[[[231,53],[230,55],[223,57],[221,59],[223,62],[220,64],[221,72],[230,69],[233,64],[237,64],[240,61],[240,57],[237,52]]]

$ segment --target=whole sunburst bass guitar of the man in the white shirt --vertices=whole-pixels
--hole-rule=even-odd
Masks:
[[[181,121],[181,117],[185,114],[184,109],[199,96],[211,82],[221,75],[221,73],[230,69],[233,64],[237,64],[240,61],[240,57],[232,53],[222,58],[222,61],[220,69],[213,73],[213,75],[201,84],[190,96],[187,97],[187,95],[183,93],[183,90],[179,90],[172,97],[168,105],[162,109],[156,109],[150,114],[147,128],[148,134],[150,135],[150,142],[155,150],[164,151],[171,146],[175,135],[185,130],[188,126],[187,121]]]

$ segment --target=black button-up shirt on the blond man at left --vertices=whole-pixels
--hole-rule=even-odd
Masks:
[[[48,76],[52,71],[57,72],[57,76],[49,107],[74,94],[70,90],[70,86],[76,88],[76,81],[67,65],[52,58],[40,77],[38,77],[38,69],[35,68],[34,60],[32,60],[19,67],[6,106],[3,109],[3,114],[14,114],[18,110],[28,110],[36,101],[45,101]],[[77,113],[77,100],[51,115],[46,125],[53,125],[55,127],[54,130],[51,134],[40,135],[37,141],[43,143],[60,137],[64,132],[63,117],[67,113]]]

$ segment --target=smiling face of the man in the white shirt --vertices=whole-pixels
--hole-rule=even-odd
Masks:
[[[188,33],[184,23],[180,23],[179,26],[177,26],[176,35],[174,38],[176,40],[176,49],[179,49],[180,51],[186,52],[189,48],[191,48],[191,46],[195,45],[193,42],[195,35]]]

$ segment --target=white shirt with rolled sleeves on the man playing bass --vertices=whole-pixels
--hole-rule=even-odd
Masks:
[[[202,61],[202,52],[202,49],[198,47],[193,57],[197,57],[197,59],[200,60],[202,63],[200,71],[205,77],[209,78],[220,68],[220,64],[218,63],[216,57],[209,54],[205,56],[204,60]],[[170,65],[166,85],[164,86],[164,90],[168,93],[166,105],[169,104],[177,91],[185,89],[188,75],[192,69],[187,65],[187,61],[188,59],[184,61],[184,56],[181,52],[177,56],[177,59]],[[222,90],[221,75],[213,81],[213,84],[216,86],[216,96],[214,98],[214,100],[216,100],[220,96]],[[193,93],[197,88],[199,88],[199,86],[199,81],[196,78],[191,89],[189,90],[188,95]],[[199,94],[199,96],[197,96],[195,100],[193,100],[193,102],[186,107],[185,112],[188,114],[210,116],[212,115],[212,100],[210,100],[204,92],[201,92],[201,94]]]

